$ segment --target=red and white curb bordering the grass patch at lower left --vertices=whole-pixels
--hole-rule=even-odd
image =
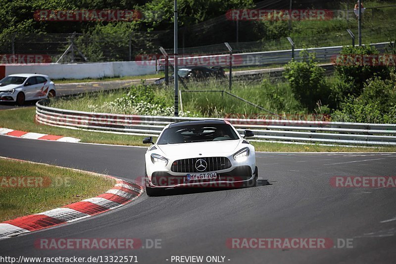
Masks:
[[[115,179],[116,184],[112,189],[94,198],[86,199],[61,208],[1,222],[0,239],[49,228],[55,225],[70,223],[105,211],[113,210],[132,202],[144,192],[143,187],[137,183],[117,179],[108,175],[93,172],[89,173]]]

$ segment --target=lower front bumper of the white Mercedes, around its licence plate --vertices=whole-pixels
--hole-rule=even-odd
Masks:
[[[180,174],[180,173],[177,173]],[[146,186],[151,188],[176,188],[176,187],[212,187],[212,188],[238,188],[254,179],[251,167],[248,165],[236,166],[228,171],[219,171],[216,179],[187,180],[187,175],[173,175],[169,171],[154,171],[151,178],[146,177]]]

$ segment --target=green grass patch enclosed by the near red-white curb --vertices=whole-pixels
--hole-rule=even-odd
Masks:
[[[0,221],[95,197],[115,184],[109,178],[67,168],[5,158],[0,158],[0,175]],[[14,181],[10,181],[9,177],[35,177],[36,181],[30,187],[25,185],[16,188],[10,187]]]

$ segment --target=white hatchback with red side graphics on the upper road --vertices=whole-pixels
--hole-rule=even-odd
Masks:
[[[0,80],[0,102],[16,102],[55,97],[55,84],[47,75],[12,74]]]

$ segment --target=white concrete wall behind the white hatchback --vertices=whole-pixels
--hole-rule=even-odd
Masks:
[[[5,65],[6,76],[15,73],[40,73],[48,75],[51,79],[121,77],[154,74],[155,65],[142,65],[142,61]]]

